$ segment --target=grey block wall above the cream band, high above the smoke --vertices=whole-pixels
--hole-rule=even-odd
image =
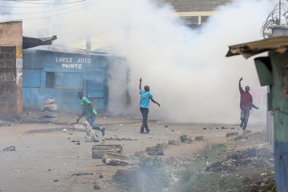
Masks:
[[[176,12],[215,11],[219,5],[224,5],[230,0],[151,0],[159,6],[172,5]]]

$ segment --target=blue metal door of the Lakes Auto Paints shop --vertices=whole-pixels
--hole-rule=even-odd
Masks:
[[[106,69],[105,67],[87,67],[87,98],[98,112],[105,112],[106,106]]]

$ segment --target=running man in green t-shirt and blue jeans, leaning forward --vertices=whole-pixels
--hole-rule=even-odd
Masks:
[[[92,126],[92,129],[101,131],[102,136],[104,136],[105,127],[99,127],[99,126],[93,125],[95,118],[96,118],[96,114],[97,114],[96,110],[93,108],[93,104],[86,97],[83,97],[83,91],[78,91],[77,95],[80,98],[80,106],[83,112],[76,121],[78,122],[81,119],[81,117],[85,115],[86,120]]]

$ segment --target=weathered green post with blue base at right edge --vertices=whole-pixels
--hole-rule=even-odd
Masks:
[[[273,83],[268,98],[273,111],[276,188],[288,191],[288,52],[270,51]],[[259,72],[258,72],[259,73]],[[271,99],[272,98],[272,99]]]

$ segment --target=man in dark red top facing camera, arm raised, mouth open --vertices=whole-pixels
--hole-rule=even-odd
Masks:
[[[241,87],[241,81],[243,80],[243,77],[239,80],[239,91],[240,91],[240,109],[241,109],[241,123],[240,127],[243,127],[242,130],[244,131],[247,126],[248,118],[250,115],[250,110],[252,110],[252,107],[255,109],[259,109],[259,107],[256,107],[253,104],[252,95],[249,93],[249,86],[245,87],[245,91]]]

